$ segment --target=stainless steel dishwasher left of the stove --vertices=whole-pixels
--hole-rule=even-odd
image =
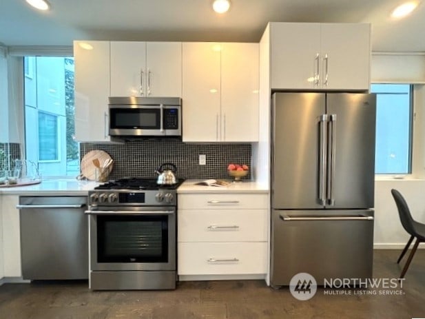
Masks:
[[[86,196],[19,196],[23,279],[88,278]]]

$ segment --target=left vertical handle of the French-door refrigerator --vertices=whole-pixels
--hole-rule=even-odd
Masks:
[[[318,178],[318,203],[326,205],[326,162],[327,162],[327,132],[326,123],[328,115],[322,114],[318,116],[319,121],[319,178]]]

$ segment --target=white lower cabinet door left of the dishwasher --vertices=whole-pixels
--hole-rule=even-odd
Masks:
[[[21,277],[21,237],[19,231],[19,196],[1,196],[1,214],[3,215],[3,259],[4,276]]]

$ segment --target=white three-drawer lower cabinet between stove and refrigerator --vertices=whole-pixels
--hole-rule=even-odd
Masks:
[[[269,236],[267,198],[267,194],[233,192],[178,194],[180,280],[184,276],[190,280],[211,276],[265,278]]]

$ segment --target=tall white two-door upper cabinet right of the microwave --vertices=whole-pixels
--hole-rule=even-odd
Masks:
[[[258,141],[258,43],[183,43],[183,141]]]

